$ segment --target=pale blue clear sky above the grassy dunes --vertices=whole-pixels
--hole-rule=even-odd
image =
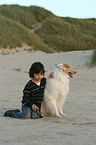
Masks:
[[[0,0],[0,5],[40,6],[56,16],[96,18],[96,0]]]

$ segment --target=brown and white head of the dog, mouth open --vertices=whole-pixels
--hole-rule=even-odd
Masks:
[[[73,74],[76,73],[76,71],[70,69],[70,66],[68,64],[57,64],[56,67],[64,73],[68,74],[68,76],[71,78],[73,78]]]

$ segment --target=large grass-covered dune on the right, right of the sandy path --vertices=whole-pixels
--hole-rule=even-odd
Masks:
[[[56,51],[88,50],[96,48],[96,21],[47,19],[36,33]]]

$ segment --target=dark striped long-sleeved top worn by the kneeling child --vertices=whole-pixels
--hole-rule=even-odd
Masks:
[[[35,104],[41,108],[41,103],[43,100],[44,89],[46,85],[46,78],[42,78],[40,86],[30,80],[23,90],[22,104],[26,104],[28,107],[32,108],[32,105]]]

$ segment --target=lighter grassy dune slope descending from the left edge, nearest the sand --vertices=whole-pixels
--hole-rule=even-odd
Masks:
[[[20,23],[0,15],[0,47],[22,47],[24,42],[36,50],[45,51],[47,49],[47,45],[38,35],[31,33]]]

